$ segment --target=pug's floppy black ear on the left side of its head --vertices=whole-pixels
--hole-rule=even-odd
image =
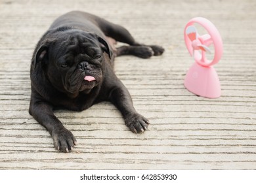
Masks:
[[[51,44],[54,44],[55,41],[56,40],[54,39],[46,39],[40,44],[39,48],[37,48],[37,51],[35,52],[35,55],[33,57],[33,61],[32,61],[33,69],[35,69],[38,63],[46,64],[48,59],[49,46]]]

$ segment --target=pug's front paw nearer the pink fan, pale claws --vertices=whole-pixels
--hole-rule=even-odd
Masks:
[[[133,133],[142,133],[148,129],[150,122],[140,114],[133,114],[125,118],[125,125],[133,131]]]

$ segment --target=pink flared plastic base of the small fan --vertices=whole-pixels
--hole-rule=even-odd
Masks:
[[[186,73],[184,86],[188,91],[207,98],[221,96],[221,84],[213,67],[202,67],[194,63]]]

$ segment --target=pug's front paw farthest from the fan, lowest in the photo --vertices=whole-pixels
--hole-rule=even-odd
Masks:
[[[52,136],[54,148],[61,152],[70,152],[76,144],[74,135],[66,128],[53,131]]]

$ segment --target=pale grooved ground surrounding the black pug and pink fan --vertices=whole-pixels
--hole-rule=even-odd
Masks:
[[[72,2],[72,3],[71,3]],[[256,1],[0,1],[0,169],[256,169]],[[150,119],[135,135],[110,103],[83,112],[56,111],[74,133],[69,154],[28,114],[33,48],[53,20],[84,10],[124,25],[163,56],[116,59],[116,74],[135,108]],[[224,54],[215,66],[219,99],[188,92],[193,59],[183,40],[188,20],[219,29]]]

